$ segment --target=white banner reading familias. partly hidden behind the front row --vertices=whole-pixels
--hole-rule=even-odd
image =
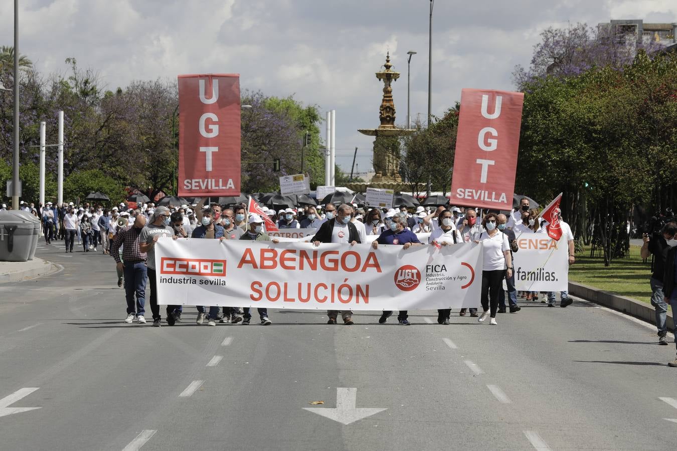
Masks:
[[[515,287],[519,291],[569,289],[569,247],[566,237],[554,241],[544,233],[517,237],[519,250],[512,254]]]

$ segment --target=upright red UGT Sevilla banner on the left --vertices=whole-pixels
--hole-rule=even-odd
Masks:
[[[240,75],[179,75],[179,195],[240,195]]]

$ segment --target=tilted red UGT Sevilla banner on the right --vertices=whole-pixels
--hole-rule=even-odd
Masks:
[[[523,93],[463,89],[450,204],[512,210]]]

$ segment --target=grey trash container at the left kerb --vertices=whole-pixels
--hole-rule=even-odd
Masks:
[[[0,262],[26,262],[33,242],[37,246],[35,222],[28,212],[7,210],[0,212]]]

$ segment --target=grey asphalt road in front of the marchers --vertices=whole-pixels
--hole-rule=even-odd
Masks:
[[[207,327],[190,307],[175,327],[128,325],[112,258],[54,243],[38,256],[62,272],[0,285],[0,399],[39,388],[0,405],[39,407],[0,417],[0,450],[139,449],[142,431],[142,450],[674,450],[659,399],[677,400],[674,343],[588,302],[521,301],[498,327],[289,310]],[[303,410],[335,407],[337,387],[387,410],[350,425]]]

